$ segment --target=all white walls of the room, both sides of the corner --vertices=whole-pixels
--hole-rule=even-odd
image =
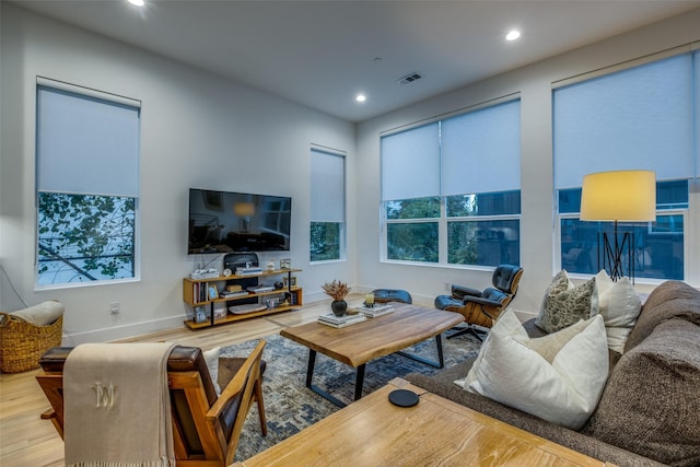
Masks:
[[[522,103],[520,264],[526,270],[514,307],[534,316],[561,268],[552,232],[552,83],[700,40],[700,10],[695,9],[355,124],[36,14],[21,3],[1,3],[0,14],[0,310],[60,301],[66,306],[66,345],[183,327],[189,312],[183,302],[183,278],[202,262],[221,268],[220,255],[187,255],[190,187],[291,197],[291,249],[284,255],[264,254],[261,262],[291,258],[292,266],[303,270],[299,281],[306,303],[325,299],[322,284],[330,279],[348,282],[358,292],[405,289],[425,303],[445,293],[445,283],[489,285],[491,268],[382,259],[380,138],[513,94],[520,94]],[[37,77],[142,102],[138,280],[35,287]],[[308,258],[308,161],[315,147],[346,154],[348,227],[346,259],[340,261],[313,264]],[[695,287],[700,284],[699,197],[697,189],[689,194],[686,231],[684,280]],[[637,289],[649,292],[657,283],[638,280]],[[119,313],[110,313],[114,302],[119,303]]]

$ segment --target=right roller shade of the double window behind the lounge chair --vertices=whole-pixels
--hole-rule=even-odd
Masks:
[[[521,102],[443,120],[442,195],[521,187]]]

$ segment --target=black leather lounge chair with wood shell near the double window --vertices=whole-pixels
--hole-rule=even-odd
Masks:
[[[493,287],[485,290],[471,289],[463,285],[452,285],[451,295],[440,295],[435,299],[435,308],[457,312],[464,315],[466,328],[447,336],[451,339],[464,334],[471,334],[483,340],[475,326],[491,328],[517,293],[523,268],[513,265],[500,265],[493,270],[491,283]]]

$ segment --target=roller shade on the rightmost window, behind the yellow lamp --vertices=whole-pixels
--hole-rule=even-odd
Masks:
[[[695,174],[690,54],[557,89],[555,185],[594,172],[646,170],[656,179]]]

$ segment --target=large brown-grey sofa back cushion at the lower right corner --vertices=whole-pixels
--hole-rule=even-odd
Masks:
[[[700,465],[700,326],[658,324],[620,358],[583,429],[673,466]]]

